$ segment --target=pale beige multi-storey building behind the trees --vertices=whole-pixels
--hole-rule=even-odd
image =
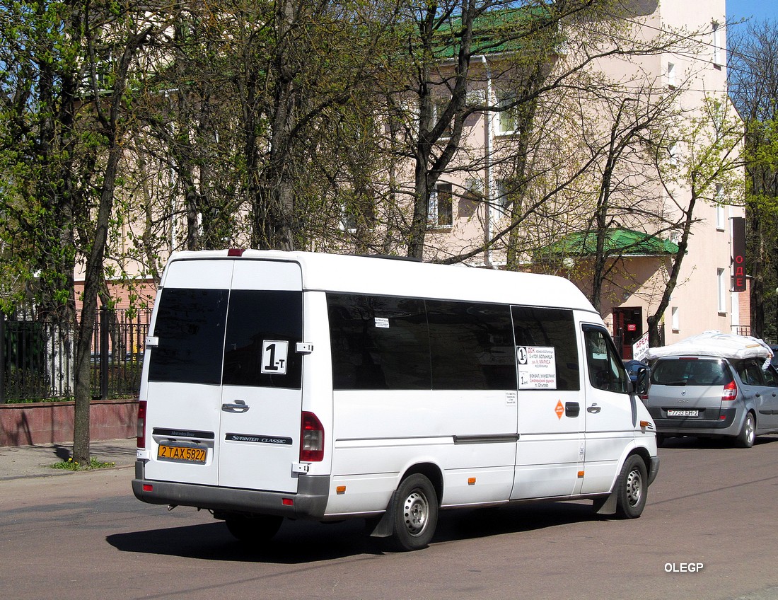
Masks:
[[[464,254],[465,264],[481,268],[506,268],[513,261],[512,268],[569,277],[593,296],[591,223],[598,205],[609,202],[600,229],[608,233],[610,254],[603,257],[600,271],[606,276],[595,304],[625,358],[632,357],[633,342],[647,332],[647,317],[657,311],[671,253],[682,240],[682,210],[692,198],[688,249],[662,318],[665,342],[709,329],[748,332],[749,325],[748,292],[731,291],[732,219],[744,216],[742,172],[723,170],[696,188],[687,176],[713,144],[710,131],[733,121],[738,125],[727,100],[725,2],[637,4],[638,14],[607,39],[623,36],[633,48],[643,44],[654,51],[598,59],[580,72],[575,93],[544,96],[538,133],[521,165],[534,177],[521,198],[513,198],[511,190],[518,137],[512,114],[471,114],[454,167],[440,178],[432,198],[425,257]],[[578,27],[570,44],[559,49],[553,69],[580,60],[580,52],[597,43],[585,26]],[[663,44],[666,48],[657,50]],[[471,63],[468,103],[500,106],[510,99],[510,68],[503,56],[475,56]],[[707,112],[711,106],[716,114]],[[620,153],[605,143],[615,125],[625,132]],[[631,125],[637,133],[629,139]],[[647,135],[659,137],[652,148],[664,153],[651,158],[641,142]],[[605,186],[608,160],[615,165],[610,177],[618,182]],[[721,163],[727,161],[731,156]],[[412,189],[408,170],[401,168],[399,177]],[[552,193],[558,188],[562,191]],[[493,242],[486,250],[485,240]],[[152,296],[146,283],[138,293]]]

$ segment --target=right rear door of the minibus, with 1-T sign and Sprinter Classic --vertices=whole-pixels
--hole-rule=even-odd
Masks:
[[[303,355],[300,265],[236,261],[224,351],[219,486],[296,492]]]

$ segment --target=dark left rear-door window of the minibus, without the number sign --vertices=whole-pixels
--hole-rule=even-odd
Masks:
[[[226,289],[165,288],[159,292],[149,381],[215,384],[222,381]]]

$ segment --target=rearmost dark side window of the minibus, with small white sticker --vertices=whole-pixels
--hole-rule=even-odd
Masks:
[[[424,301],[327,294],[335,390],[429,390]]]

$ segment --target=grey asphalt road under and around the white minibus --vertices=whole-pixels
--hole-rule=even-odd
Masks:
[[[286,521],[240,546],[205,511],[135,500],[128,468],[6,480],[0,598],[778,598],[778,437],[670,440],[660,455],[642,518],[447,511],[415,553],[384,553],[359,520]]]

